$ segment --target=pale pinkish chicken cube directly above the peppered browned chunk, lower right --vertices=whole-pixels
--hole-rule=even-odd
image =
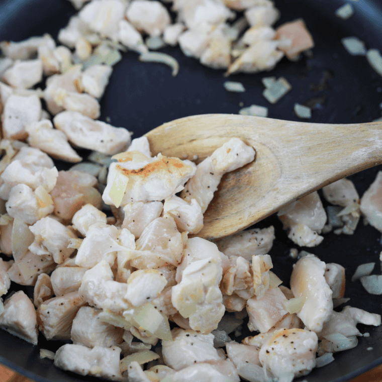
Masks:
[[[288,314],[284,307],[285,302],[287,302],[287,298],[279,288],[268,289],[261,298],[250,298],[247,301],[248,325],[261,333],[267,332]]]

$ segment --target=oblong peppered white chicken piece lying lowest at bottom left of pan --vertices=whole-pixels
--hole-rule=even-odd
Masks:
[[[94,375],[109,380],[123,380],[120,371],[121,349],[118,346],[86,346],[66,344],[54,356],[55,366],[80,375]]]

